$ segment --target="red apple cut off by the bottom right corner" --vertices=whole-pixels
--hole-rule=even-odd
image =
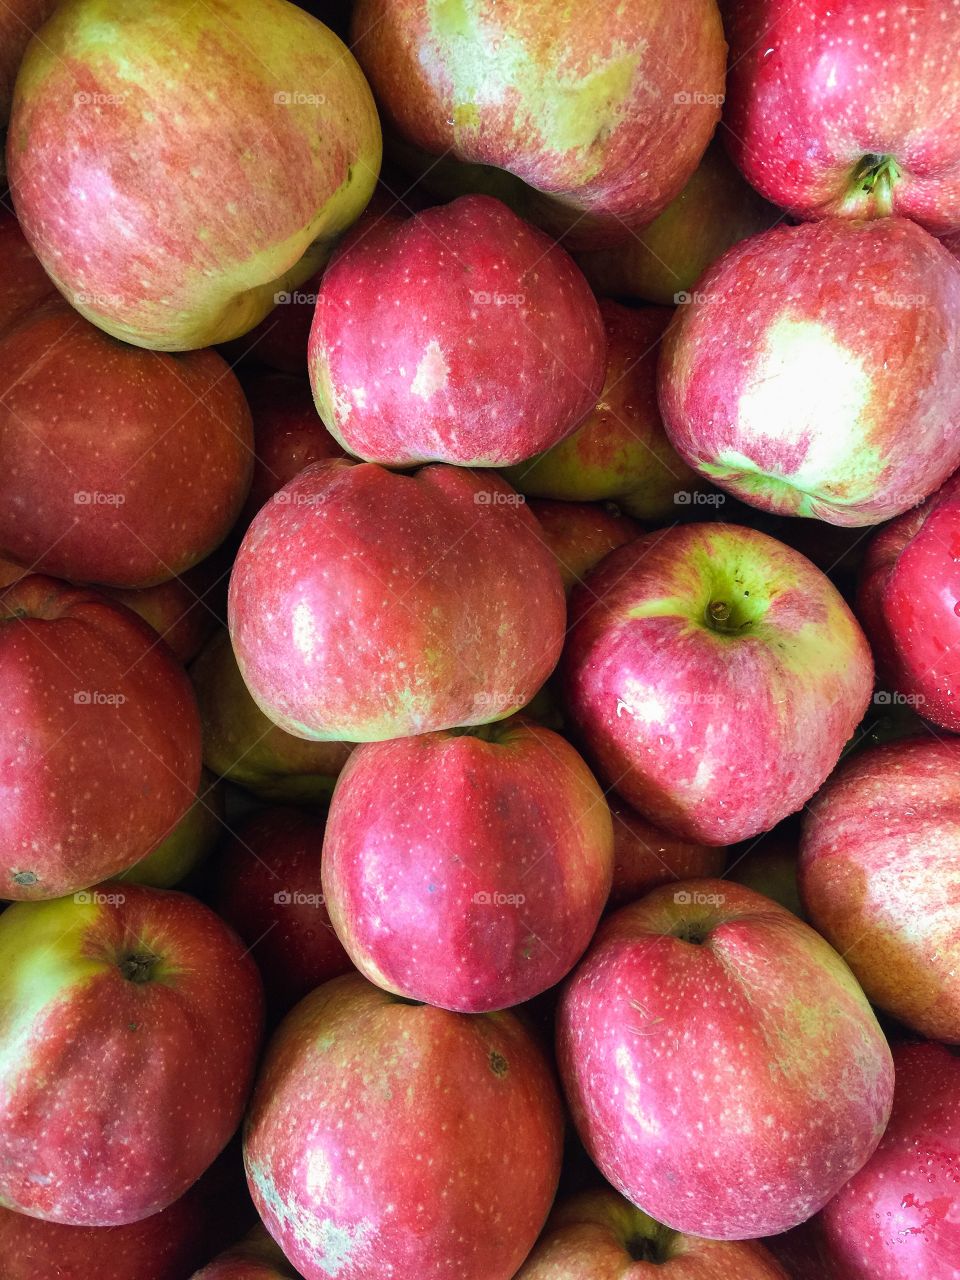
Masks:
[[[836,1280],[951,1280],[960,1260],[960,1059],[893,1047],[893,1114],[879,1147],[819,1219]]]

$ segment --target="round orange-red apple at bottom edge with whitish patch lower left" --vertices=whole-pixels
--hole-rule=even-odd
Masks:
[[[512,1280],[562,1143],[552,1069],[513,1014],[410,1005],[347,974],[270,1042],[243,1153],[253,1203],[305,1280]]]

